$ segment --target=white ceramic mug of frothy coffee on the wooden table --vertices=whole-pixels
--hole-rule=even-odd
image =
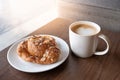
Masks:
[[[77,26],[77,27],[76,27]],[[84,28],[84,26],[92,27],[95,31]],[[91,32],[90,32],[91,31]],[[109,50],[109,39],[100,33],[101,28],[98,24],[90,21],[77,21],[69,27],[69,41],[73,53],[79,57],[86,58],[93,54],[104,55]],[[96,52],[98,46],[98,38],[101,38],[107,44],[104,51]]]

